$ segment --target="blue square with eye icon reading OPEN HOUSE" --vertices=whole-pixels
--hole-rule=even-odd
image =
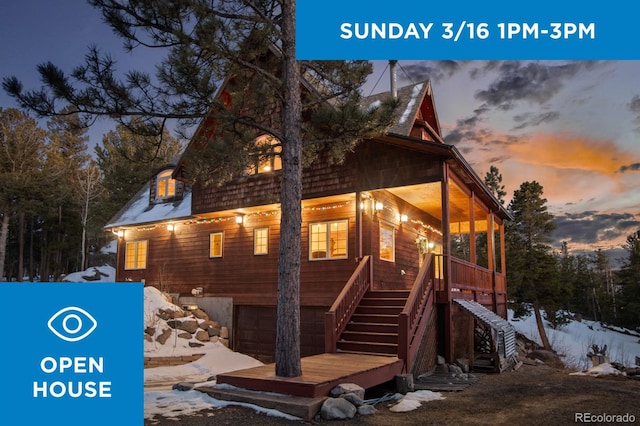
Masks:
[[[0,283],[0,300],[0,424],[142,424],[142,283]]]

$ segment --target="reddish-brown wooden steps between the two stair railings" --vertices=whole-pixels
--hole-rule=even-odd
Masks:
[[[337,352],[396,356],[398,317],[408,290],[368,290],[336,342]]]

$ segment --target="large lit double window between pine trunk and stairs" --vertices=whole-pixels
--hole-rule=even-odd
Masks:
[[[309,225],[309,259],[346,259],[349,222],[316,222]]]

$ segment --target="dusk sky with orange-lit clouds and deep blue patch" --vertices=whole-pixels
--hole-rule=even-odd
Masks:
[[[125,53],[83,1],[0,4],[0,78],[37,88],[38,64],[71,71],[91,44],[123,71],[157,62]],[[389,87],[387,63],[374,67],[365,95]],[[573,250],[620,248],[640,229],[640,61],[401,61],[397,76],[399,86],[431,80],[445,142],[481,178],[497,166],[507,201],[522,182],[543,186],[557,241]],[[0,107],[15,106],[2,91]],[[98,122],[90,143],[111,128]]]

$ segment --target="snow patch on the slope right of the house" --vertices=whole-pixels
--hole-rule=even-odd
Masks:
[[[509,322],[515,329],[529,339],[541,344],[540,335],[533,314],[527,317],[513,318],[509,310]],[[545,330],[553,349],[563,355],[562,360],[568,368],[585,370],[591,367],[587,353],[592,345],[607,345],[607,355],[611,362],[632,367],[635,357],[640,356],[640,335],[638,333],[605,327],[598,321],[576,321],[554,329],[545,321]],[[619,330],[619,331],[618,331]]]

